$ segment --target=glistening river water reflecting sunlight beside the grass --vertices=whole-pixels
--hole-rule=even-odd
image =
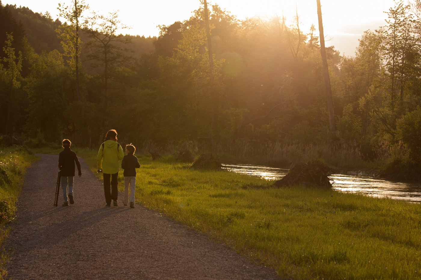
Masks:
[[[280,180],[289,169],[248,164],[222,164],[222,168],[231,172],[248,174],[266,180]],[[409,202],[421,202],[421,185],[387,181],[375,177],[332,174],[329,176],[336,190],[362,193],[377,197],[389,197]]]

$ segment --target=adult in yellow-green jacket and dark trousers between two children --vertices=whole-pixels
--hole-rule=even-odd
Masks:
[[[111,129],[105,135],[104,143],[99,147],[98,156],[96,156],[96,165],[99,170],[102,170],[104,179],[104,195],[107,207],[111,206],[111,200],[113,200],[113,206],[118,206],[117,176],[120,169],[120,161],[123,157],[123,148],[117,143],[117,131]]]

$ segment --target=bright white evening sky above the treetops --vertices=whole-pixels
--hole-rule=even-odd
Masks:
[[[341,54],[351,56],[358,46],[358,39],[367,29],[374,31],[384,26],[387,15],[384,11],[394,7],[394,0],[320,0],[326,46],[334,45]],[[3,5],[26,6],[34,12],[48,11],[56,19],[58,3],[71,5],[72,0],[3,0]],[[101,13],[119,10],[119,18],[132,28],[125,33],[132,35],[158,36],[157,25],[171,25],[192,15],[201,5],[200,0],[85,0],[91,10]],[[218,4],[238,19],[282,14],[293,20],[296,11],[300,17],[300,29],[309,32],[314,24],[318,32],[316,0],[208,0],[208,6]]]

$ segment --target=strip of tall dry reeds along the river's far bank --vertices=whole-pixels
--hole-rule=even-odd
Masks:
[[[155,151],[164,156],[174,155],[186,143],[169,141],[158,145],[153,141],[144,141],[136,146],[136,153],[147,156],[149,151]],[[213,152],[221,161],[227,163],[264,164],[288,168],[293,163],[306,161],[322,161],[337,169],[376,169],[389,157],[384,149],[378,151],[375,161],[365,160],[360,148],[344,143],[305,144],[300,142],[260,142],[236,140],[209,143],[188,142],[189,149],[198,156],[200,153]]]

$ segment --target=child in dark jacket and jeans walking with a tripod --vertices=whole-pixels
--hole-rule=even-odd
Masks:
[[[82,172],[80,171],[80,162],[79,159],[77,159],[76,153],[70,150],[70,145],[72,145],[72,142],[70,142],[69,139],[64,139],[61,144],[64,148],[64,150],[59,154],[61,188],[63,189],[64,198],[63,206],[69,206],[67,199],[67,185],[69,185],[70,204],[75,203],[73,200],[73,177],[75,177],[75,162],[77,170],[79,171],[79,177],[82,176]]]

